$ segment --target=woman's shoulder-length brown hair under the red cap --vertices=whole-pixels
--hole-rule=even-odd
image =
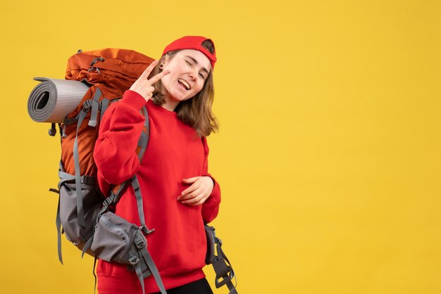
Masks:
[[[210,51],[210,53],[214,53],[214,46],[211,40],[206,39],[201,45]],[[163,63],[166,56],[168,56],[168,58],[173,58],[176,53],[178,53],[178,50],[170,51],[161,56],[158,65],[156,65],[151,71],[149,78],[162,72],[160,65]],[[154,87],[155,91],[152,97],[153,103],[157,106],[161,106],[166,101],[166,96],[163,94],[163,84],[161,80],[156,82]],[[193,127],[199,136],[209,136],[211,132],[216,132],[219,128],[218,120],[211,112],[213,98],[213,70],[211,70],[201,91],[188,100],[180,101],[175,108],[175,112],[178,113],[178,118],[185,124]]]

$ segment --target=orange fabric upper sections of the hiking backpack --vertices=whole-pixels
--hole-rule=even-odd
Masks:
[[[122,98],[124,91],[132,86],[153,61],[154,59],[149,56],[127,49],[78,51],[69,58],[66,79],[87,82],[92,85],[77,108],[68,115],[67,123],[63,125],[63,134],[75,134],[77,124],[70,122],[74,122],[75,117],[85,107],[85,103],[86,106],[92,103],[89,106],[92,109],[85,117],[85,121],[88,123],[82,124],[77,132],[81,175],[94,177],[97,174],[93,160],[93,149],[98,137],[99,119],[107,106],[112,101]],[[68,174],[75,174],[73,140],[75,140],[75,136],[69,135],[62,136],[61,139],[61,160],[64,171]]]

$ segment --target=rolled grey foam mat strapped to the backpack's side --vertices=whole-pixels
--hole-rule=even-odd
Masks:
[[[48,77],[34,79],[41,83],[27,99],[27,113],[35,122],[64,122],[89,89],[87,84],[79,81]]]

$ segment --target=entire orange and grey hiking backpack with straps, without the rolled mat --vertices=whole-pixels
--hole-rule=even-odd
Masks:
[[[58,259],[61,255],[61,234],[85,253],[102,260],[128,264],[128,269],[136,271],[144,293],[143,279],[153,274],[161,293],[166,290],[159,272],[147,251],[144,235],[151,234],[144,224],[142,196],[136,175],[120,185],[113,186],[109,195],[104,196],[97,184],[97,167],[93,159],[94,143],[98,137],[99,122],[111,103],[122,98],[125,90],[142,74],[153,58],[131,50],[103,49],[78,51],[68,60],[66,79],[81,81],[89,89],[78,106],[58,124],[61,135],[61,161],[58,171],[60,181],[56,226],[58,231]],[[142,160],[149,140],[149,120],[147,110],[141,110],[145,117],[144,129],[139,138],[137,154]],[[49,134],[56,134],[52,123]],[[114,215],[112,208],[128,184],[137,197],[141,226],[130,224]],[[115,229],[117,228],[117,229]],[[212,226],[205,226],[208,250],[206,264],[213,264],[216,271],[216,288],[227,285],[230,294],[237,293],[232,285],[235,278],[228,258],[221,249],[221,240],[214,234]],[[125,240],[116,237],[116,231],[125,231]],[[217,248],[217,255],[216,250]],[[225,262],[226,260],[226,262]],[[228,262],[228,263],[227,263]]]

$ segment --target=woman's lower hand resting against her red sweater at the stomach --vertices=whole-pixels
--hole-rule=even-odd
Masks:
[[[192,177],[182,179],[185,184],[191,184],[190,187],[182,191],[178,196],[178,201],[187,205],[201,205],[211,195],[214,183],[211,177]]]

